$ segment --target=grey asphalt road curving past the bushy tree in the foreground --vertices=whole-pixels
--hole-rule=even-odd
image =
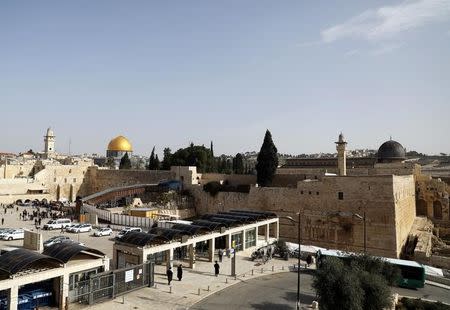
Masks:
[[[302,306],[310,305],[315,292],[311,287],[312,276],[301,275]],[[448,290],[425,285],[419,290],[394,288],[402,296],[420,297],[439,300],[450,304]],[[297,298],[297,274],[293,272],[279,273],[245,281],[220,291],[195,304],[195,310],[229,310],[229,309],[258,309],[258,310],[287,310],[295,309]]]

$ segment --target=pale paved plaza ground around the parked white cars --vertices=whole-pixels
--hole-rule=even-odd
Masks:
[[[34,225],[34,221],[23,221],[20,219],[19,214],[22,213],[23,210],[27,210],[28,212],[32,212],[34,210],[34,207],[22,207],[19,206],[19,211],[16,211],[17,206],[14,206],[14,208],[6,209],[6,214],[4,213],[4,209],[0,209],[0,218],[4,218],[4,224],[0,226],[0,228],[23,228],[25,230],[29,231],[39,231],[42,233],[43,241],[49,239],[53,236],[58,236],[61,234],[64,234],[66,236],[69,236],[74,241],[79,241],[81,243],[84,243],[87,247],[97,249],[99,251],[102,251],[105,253],[109,258],[112,259],[113,255],[113,239],[118,233],[118,231],[113,231],[113,235],[111,237],[104,236],[104,237],[95,237],[94,231],[95,228],[91,232],[83,232],[83,233],[69,233],[64,232],[61,233],[60,229],[57,230],[44,230],[44,229],[36,229]],[[50,219],[43,219],[41,226],[43,227],[44,224],[46,224]],[[102,225],[106,226],[106,225]],[[5,247],[18,247],[23,245],[23,240],[0,240],[0,248]]]

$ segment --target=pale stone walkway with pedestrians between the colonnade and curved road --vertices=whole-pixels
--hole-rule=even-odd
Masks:
[[[71,304],[69,309],[189,309],[203,298],[233,284],[271,273],[288,272],[293,270],[294,264],[297,264],[295,258],[289,261],[274,258],[262,264],[260,261],[251,261],[248,257],[250,253],[247,251],[236,255],[237,277],[230,276],[231,259],[224,257],[223,262],[219,262],[218,277],[214,275],[214,263],[197,260],[195,270],[183,268],[181,281],[176,278],[177,263],[175,262],[174,280],[171,286],[167,285],[165,266],[156,266],[155,287],[145,287],[92,306]]]

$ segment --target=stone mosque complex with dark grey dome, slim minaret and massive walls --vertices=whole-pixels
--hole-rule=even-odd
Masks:
[[[396,141],[383,143],[374,158],[346,158],[346,144],[341,134],[336,142],[337,158],[288,160],[278,169],[273,187],[253,185],[248,193],[211,196],[194,183],[249,184],[245,183],[249,176],[222,175],[221,179],[190,171],[184,179],[195,180],[187,187],[196,198],[198,214],[237,208],[295,218],[300,212],[306,244],[360,251],[366,235],[369,253],[399,257],[416,218],[420,166],[405,161],[405,149]],[[295,242],[297,230],[298,226],[280,220],[281,237]]]

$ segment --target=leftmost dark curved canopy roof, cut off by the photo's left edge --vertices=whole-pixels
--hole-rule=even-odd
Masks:
[[[64,262],[27,249],[17,249],[0,255],[0,271],[11,276],[34,264],[57,268]]]

